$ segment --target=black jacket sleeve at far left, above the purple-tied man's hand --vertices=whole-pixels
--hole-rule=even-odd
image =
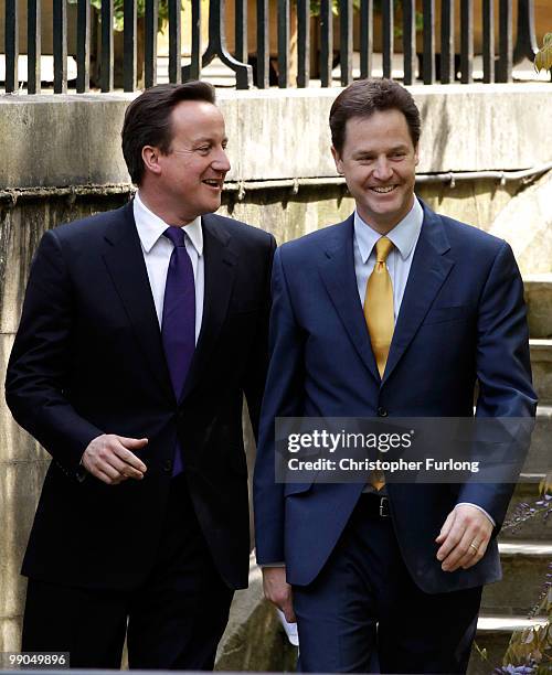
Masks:
[[[26,287],[23,311],[8,364],[6,400],[15,420],[75,478],[91,440],[103,431],[67,400],[74,298],[59,237],[43,236]]]

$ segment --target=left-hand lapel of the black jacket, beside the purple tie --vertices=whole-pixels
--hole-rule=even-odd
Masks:
[[[174,398],[161,342],[161,332],[136,229],[132,202],[106,232],[104,261],[125,307],[146,363],[167,396]]]

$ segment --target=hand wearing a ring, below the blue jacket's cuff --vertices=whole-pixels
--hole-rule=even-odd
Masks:
[[[492,533],[489,518],[469,504],[456,506],[447,516],[439,536],[437,560],[443,571],[468,569],[484,557]]]

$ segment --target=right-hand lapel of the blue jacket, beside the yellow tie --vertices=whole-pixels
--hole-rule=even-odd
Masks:
[[[435,296],[448,277],[454,260],[444,257],[450,246],[440,217],[422,203],[424,222],[414,251],[408,280],[396,320],[383,383],[411,344]]]

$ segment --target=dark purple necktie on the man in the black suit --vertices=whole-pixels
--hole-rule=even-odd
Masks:
[[[195,287],[182,227],[168,227],[163,235],[174,248],[167,271],[161,336],[177,400],[180,400],[195,350]],[[182,449],[177,440],[172,475],[183,470]]]

